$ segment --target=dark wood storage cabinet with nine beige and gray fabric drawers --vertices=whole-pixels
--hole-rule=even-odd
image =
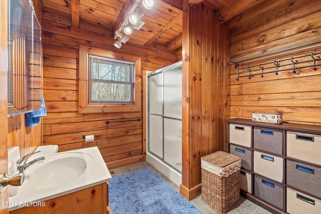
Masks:
[[[229,152],[241,158],[241,195],[272,213],[320,213],[321,126],[229,123]]]

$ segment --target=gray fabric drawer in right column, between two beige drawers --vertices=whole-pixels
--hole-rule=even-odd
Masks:
[[[321,168],[286,160],[286,184],[321,197]]]

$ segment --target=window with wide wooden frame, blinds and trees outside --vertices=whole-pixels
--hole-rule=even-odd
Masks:
[[[140,111],[140,57],[80,47],[79,112]]]

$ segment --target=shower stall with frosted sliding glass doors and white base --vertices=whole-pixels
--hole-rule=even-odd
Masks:
[[[182,62],[147,74],[146,160],[182,183]]]

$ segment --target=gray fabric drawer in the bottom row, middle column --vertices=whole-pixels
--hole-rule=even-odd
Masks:
[[[283,185],[254,175],[254,195],[263,200],[283,208]]]

